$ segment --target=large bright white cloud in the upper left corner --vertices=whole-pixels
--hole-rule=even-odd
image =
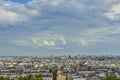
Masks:
[[[38,15],[36,10],[26,7],[24,4],[0,1],[0,23],[17,24],[29,20],[29,17]]]

